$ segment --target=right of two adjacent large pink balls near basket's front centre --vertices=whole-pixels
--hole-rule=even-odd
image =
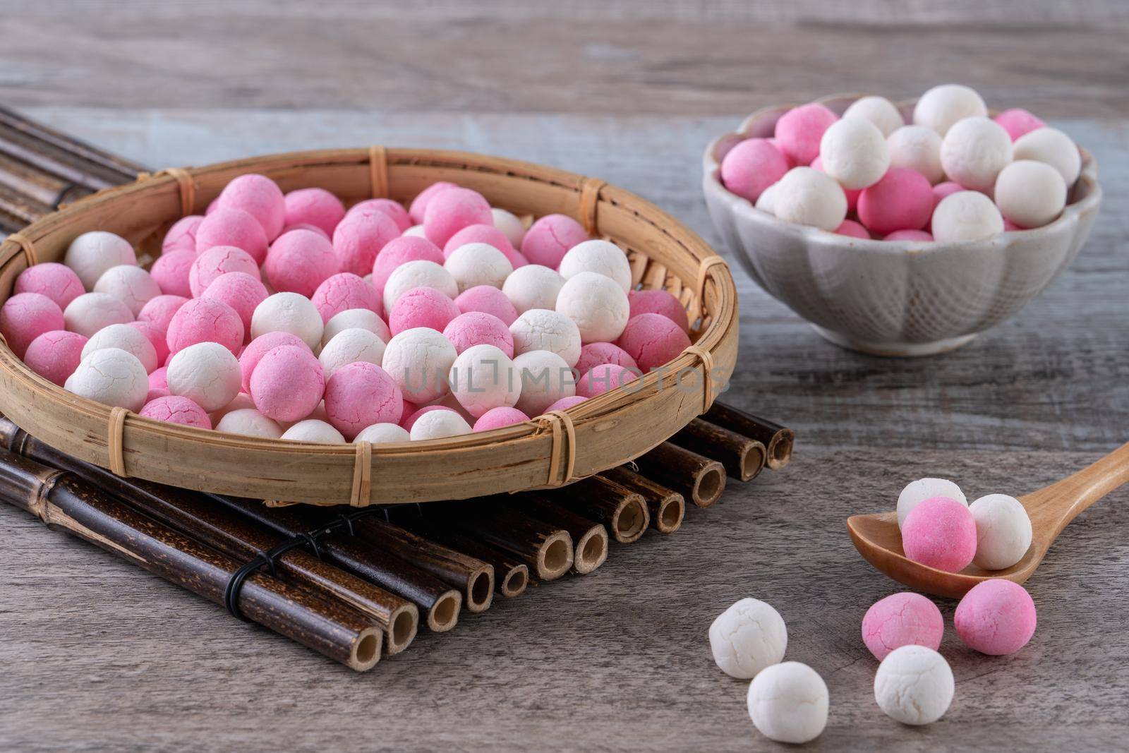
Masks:
[[[400,387],[375,364],[356,361],[342,366],[325,385],[329,422],[349,441],[365,427],[395,423],[403,408]]]

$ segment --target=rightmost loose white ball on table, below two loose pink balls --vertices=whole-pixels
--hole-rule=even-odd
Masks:
[[[926,646],[895,648],[874,675],[874,700],[887,717],[905,725],[936,721],[953,702],[953,669]]]

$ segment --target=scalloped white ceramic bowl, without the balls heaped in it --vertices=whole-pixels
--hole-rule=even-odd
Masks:
[[[861,95],[821,99],[842,113]],[[702,186],[714,225],[745,271],[770,295],[844,348],[927,356],[963,345],[1018,312],[1078,253],[1097,217],[1097,164],[1085,149],[1062,216],[1041,228],[984,240],[864,240],[785,222],[721,185],[721,158],[747,138],[771,137],[794,105],[765,107],[703,157]],[[901,103],[903,115],[913,103]]]

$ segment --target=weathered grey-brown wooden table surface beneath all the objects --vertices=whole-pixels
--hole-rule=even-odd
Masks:
[[[1105,190],[1073,266],[940,357],[839,350],[735,266],[726,400],[794,427],[793,464],[367,674],[0,506],[0,750],[781,748],[750,724],[747,683],[709,655],[709,622],[744,596],[780,610],[787,658],[828,682],[813,748],[1123,747],[1126,490],[1030,581],[1039,630],[1015,656],[963,647],[940,602],[956,675],[940,721],[904,727],[873,700],[859,620],[896,585],[851,548],[847,515],[892,508],[922,475],[1017,496],[1129,439],[1129,8],[900,5],[0,3],[0,102],[154,167],[470,149],[598,175],[717,243],[699,191],[714,134],[777,102],[960,80],[1068,131]]]

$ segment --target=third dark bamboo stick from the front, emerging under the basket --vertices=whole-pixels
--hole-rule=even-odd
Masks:
[[[240,497],[205,497],[282,536],[299,536],[310,528],[294,508],[268,508],[261,500]],[[322,536],[317,544],[330,562],[415,604],[434,632],[450,630],[458,622],[463,596],[438,578],[394,554],[366,546],[349,535],[332,533]]]

